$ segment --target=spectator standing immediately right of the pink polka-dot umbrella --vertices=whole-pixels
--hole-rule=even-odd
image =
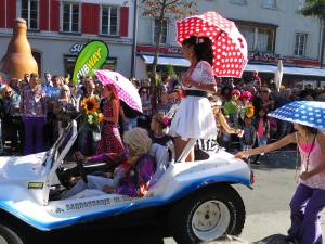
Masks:
[[[140,127],[148,129],[150,121],[153,115],[152,101],[146,87],[141,87],[139,93],[141,98],[143,113],[139,116],[138,124]]]

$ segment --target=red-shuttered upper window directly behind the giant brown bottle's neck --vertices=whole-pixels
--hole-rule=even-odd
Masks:
[[[38,1],[22,0],[21,17],[27,22],[28,29],[38,29]]]

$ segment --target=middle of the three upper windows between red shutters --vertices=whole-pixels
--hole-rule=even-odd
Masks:
[[[79,33],[79,3],[62,3],[62,30],[66,33]]]

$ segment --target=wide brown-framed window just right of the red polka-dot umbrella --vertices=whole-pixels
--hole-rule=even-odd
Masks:
[[[274,52],[275,28],[238,26],[245,37],[248,51]]]

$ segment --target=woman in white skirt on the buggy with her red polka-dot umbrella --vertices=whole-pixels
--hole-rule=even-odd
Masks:
[[[239,78],[248,62],[247,43],[235,23],[216,12],[177,22],[177,41],[191,66],[182,78],[186,93],[171,123],[177,160],[183,160],[197,139],[217,137],[216,121],[207,93],[217,92],[214,77]],[[194,159],[193,149],[186,160]]]

